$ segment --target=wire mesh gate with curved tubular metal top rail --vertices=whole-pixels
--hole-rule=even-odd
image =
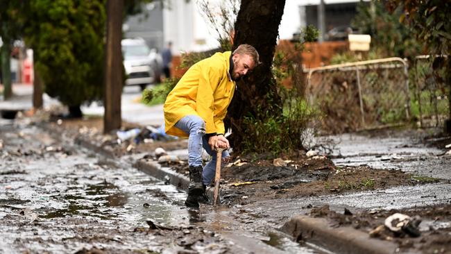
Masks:
[[[309,102],[328,133],[398,125],[410,118],[406,60],[384,58],[305,69]]]

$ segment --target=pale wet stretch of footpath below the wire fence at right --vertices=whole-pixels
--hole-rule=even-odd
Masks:
[[[380,130],[330,136],[337,144],[332,161],[337,166],[368,165],[375,169],[400,169],[419,176],[451,179],[451,137],[434,137],[436,129]],[[435,140],[442,140],[436,144]],[[368,145],[371,144],[371,145]]]

